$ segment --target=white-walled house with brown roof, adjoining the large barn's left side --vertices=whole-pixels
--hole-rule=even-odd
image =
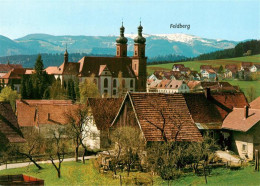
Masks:
[[[115,118],[123,99],[89,98],[89,116],[83,135],[83,143],[92,150],[109,146],[109,127]]]

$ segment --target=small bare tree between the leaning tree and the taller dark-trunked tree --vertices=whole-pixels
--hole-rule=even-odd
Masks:
[[[66,149],[68,149],[68,139],[64,128],[52,130],[52,138],[47,140],[47,153],[52,165],[57,171],[58,178],[61,177],[61,164],[64,160]],[[58,165],[55,163],[58,160]]]

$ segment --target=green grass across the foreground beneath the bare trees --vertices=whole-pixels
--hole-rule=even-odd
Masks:
[[[86,164],[76,162],[64,162],[62,164],[61,178],[57,178],[56,171],[51,164],[44,164],[43,170],[38,170],[35,166],[29,166],[18,169],[9,169],[0,171],[0,175],[7,174],[26,174],[45,180],[45,185],[120,185],[119,179],[113,179],[112,173],[101,174],[94,166],[94,160],[89,160]],[[123,180],[126,180],[125,173],[122,174]],[[146,180],[151,182],[149,173],[131,172],[128,180]],[[154,185],[167,185],[159,177],[154,177]],[[123,183],[126,183],[123,181]],[[133,185],[134,182],[128,181]],[[241,170],[230,170],[226,168],[213,169],[208,177],[208,185],[259,185],[260,172],[255,172],[253,166],[247,166]],[[125,185],[125,184],[124,184]],[[195,176],[188,173],[181,178],[171,182],[171,185],[205,185],[203,176]]]

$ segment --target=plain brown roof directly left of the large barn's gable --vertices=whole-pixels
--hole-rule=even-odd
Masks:
[[[95,124],[99,130],[110,127],[122,101],[122,98],[88,98]]]

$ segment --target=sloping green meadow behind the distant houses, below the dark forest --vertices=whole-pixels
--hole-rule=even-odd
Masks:
[[[178,64],[184,64],[185,67],[189,67],[191,70],[200,70],[200,65],[212,65],[223,67],[226,64],[235,64],[240,62],[254,62],[260,63],[260,55],[239,57],[239,58],[229,58],[229,59],[216,59],[216,60],[204,60],[204,61],[187,61],[187,62],[178,62]],[[155,70],[166,70],[169,71],[172,69],[174,63],[159,64],[159,65],[149,65],[147,66],[148,74],[152,74]]]

